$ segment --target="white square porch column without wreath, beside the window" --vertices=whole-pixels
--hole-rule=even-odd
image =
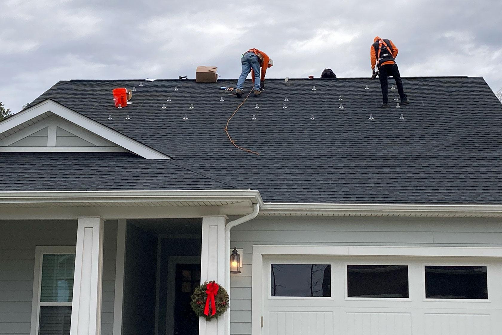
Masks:
[[[101,333],[101,283],[103,272],[103,219],[79,217],[71,335]]]

